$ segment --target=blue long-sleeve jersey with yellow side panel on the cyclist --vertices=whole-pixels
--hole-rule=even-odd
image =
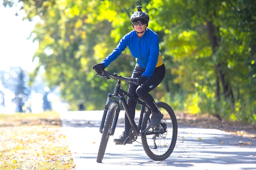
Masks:
[[[128,46],[132,57],[136,58],[137,64],[145,68],[142,75],[148,78],[153,74],[155,68],[164,64],[162,55],[159,51],[158,35],[151,29],[146,29],[141,38],[137,37],[137,33],[133,30],[126,34],[108,57],[102,60],[105,68],[109,66]]]

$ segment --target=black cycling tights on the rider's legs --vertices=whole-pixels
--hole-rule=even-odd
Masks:
[[[132,73],[133,78],[137,78],[144,73],[145,69],[141,68],[140,66],[136,65],[134,68],[134,71]],[[156,88],[164,79],[165,75],[165,66],[164,64],[162,66],[159,66],[155,68],[154,73],[150,76],[148,81],[142,86],[136,86],[134,84],[129,85],[128,93],[132,94],[133,96],[137,98],[141,98],[151,109],[152,112],[158,112],[158,108],[155,105],[155,100],[153,97],[149,94],[150,91],[152,91],[154,88]],[[130,112],[132,113],[133,118],[135,117],[135,108],[136,108],[136,102],[134,102],[132,99],[127,100],[128,107],[130,108]],[[125,115],[125,130],[124,132],[128,134],[129,130],[131,128],[130,122],[128,120],[128,117]]]

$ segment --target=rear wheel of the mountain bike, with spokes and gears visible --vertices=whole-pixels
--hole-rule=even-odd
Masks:
[[[168,158],[175,147],[177,141],[177,119],[171,106],[165,102],[157,102],[157,107],[164,115],[161,123],[150,128],[145,135],[141,137],[143,148],[151,159],[163,161]],[[142,122],[142,131],[149,126],[151,113],[146,112]]]

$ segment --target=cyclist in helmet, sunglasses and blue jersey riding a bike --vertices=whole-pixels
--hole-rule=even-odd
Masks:
[[[141,6],[137,6],[137,11],[131,15],[130,20],[134,30],[126,34],[112,53],[102,60],[101,63],[95,64],[93,69],[97,73],[101,73],[128,46],[132,57],[135,57],[137,61],[131,77],[139,78],[139,86],[130,84],[128,93],[135,97],[140,97],[150,107],[152,111],[150,126],[156,127],[160,124],[163,114],[157,108],[149,92],[156,88],[165,76],[164,61],[159,51],[159,38],[157,33],[147,28],[149,16],[141,10]],[[128,98],[127,104],[134,118],[137,103]],[[114,139],[114,142],[124,143],[129,137],[130,128],[130,122],[125,115],[125,130],[119,139]],[[132,141],[128,140],[127,144],[132,144]]]

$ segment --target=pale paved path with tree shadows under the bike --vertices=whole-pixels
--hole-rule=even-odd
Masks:
[[[216,129],[179,127],[177,143],[171,156],[164,161],[153,161],[137,142],[125,146],[112,142],[124,130],[123,117],[119,119],[114,137],[109,139],[102,163],[97,163],[102,113],[103,111],[61,113],[76,170],[94,167],[148,170],[159,166],[170,170],[256,170],[256,140],[233,136]]]

